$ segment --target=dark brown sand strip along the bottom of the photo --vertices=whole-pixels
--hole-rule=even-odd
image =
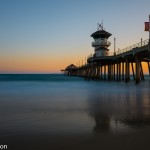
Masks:
[[[96,135],[14,135],[0,141],[9,150],[149,150],[150,129]]]

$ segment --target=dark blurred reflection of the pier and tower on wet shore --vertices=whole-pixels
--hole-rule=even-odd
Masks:
[[[89,114],[95,120],[94,132],[150,127],[149,82],[139,86],[132,83],[105,84],[89,95]]]

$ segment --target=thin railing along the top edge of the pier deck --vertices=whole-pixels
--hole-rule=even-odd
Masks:
[[[143,46],[146,46],[148,45],[149,43],[149,39],[147,40],[144,40],[144,41],[141,41],[139,43],[136,43],[136,44],[133,44],[131,46],[128,46],[126,48],[123,48],[121,50],[118,50],[116,51],[116,54],[115,55],[119,55],[119,54],[122,54],[122,53],[125,53],[125,52],[128,52],[128,51],[132,51],[134,50],[135,48],[140,48],[140,47],[143,47]],[[107,56],[114,56],[114,52],[108,52],[108,55]],[[94,54],[90,54],[87,59],[91,58],[91,57],[94,57]]]

